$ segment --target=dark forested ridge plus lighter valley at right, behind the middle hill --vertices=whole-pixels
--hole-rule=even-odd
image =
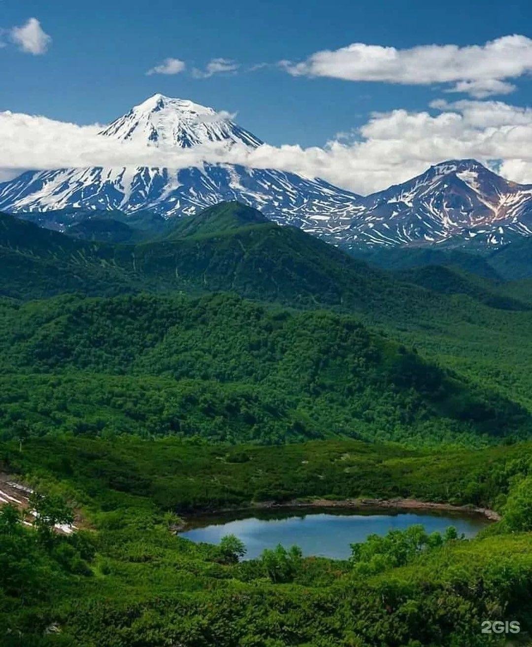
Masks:
[[[76,291],[222,290],[307,310],[332,308],[532,411],[529,285],[483,285],[463,273],[433,281],[425,270],[421,278],[398,280],[301,230],[262,220],[253,209],[221,204],[204,223],[185,219],[158,241],[133,246],[78,241],[3,215],[0,294],[27,300]]]

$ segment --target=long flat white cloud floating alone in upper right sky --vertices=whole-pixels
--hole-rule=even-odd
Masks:
[[[507,94],[505,83],[532,71],[532,39],[503,36],[484,45],[421,45],[410,49],[352,43],[315,52],[305,61],[281,61],[293,76],[328,76],[349,81],[405,85],[454,83],[452,91],[476,97]]]

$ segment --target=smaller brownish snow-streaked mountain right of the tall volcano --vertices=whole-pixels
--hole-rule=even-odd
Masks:
[[[515,184],[476,160],[450,160],[362,199],[341,232],[347,247],[500,246],[532,236],[532,185]]]

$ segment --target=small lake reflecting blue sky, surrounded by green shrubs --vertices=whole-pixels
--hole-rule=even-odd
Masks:
[[[246,559],[258,557],[265,548],[278,543],[285,548],[296,544],[304,555],[346,559],[351,554],[350,543],[363,542],[370,534],[405,530],[416,523],[429,534],[452,525],[459,536],[463,533],[470,538],[489,521],[480,514],[463,512],[299,508],[199,516],[189,520],[189,528],[179,534],[193,542],[207,543],[219,543],[224,535],[234,534],[246,544]]]

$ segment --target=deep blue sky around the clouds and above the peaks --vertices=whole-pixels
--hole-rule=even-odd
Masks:
[[[396,85],[291,76],[277,67],[350,43],[394,46],[482,44],[530,35],[532,3],[447,1],[268,1],[176,3],[169,0],[1,0],[0,27],[36,17],[53,41],[32,56],[7,41],[0,49],[0,110],[80,124],[108,122],[161,92],[238,113],[238,121],[274,145],[323,146],[364,124],[372,111],[427,109],[442,85]],[[165,58],[187,70],[145,72]],[[193,78],[213,58],[238,61],[237,74]],[[531,81],[513,80],[513,105],[527,105]],[[507,98],[505,98],[507,100]]]

